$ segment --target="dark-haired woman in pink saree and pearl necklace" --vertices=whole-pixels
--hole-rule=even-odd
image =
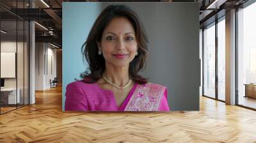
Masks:
[[[169,111],[167,89],[138,75],[148,38],[134,11],[109,5],[82,47],[89,69],[67,86],[65,110]]]

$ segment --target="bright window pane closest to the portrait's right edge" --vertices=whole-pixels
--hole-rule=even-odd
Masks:
[[[204,95],[215,98],[215,24],[204,29]]]

